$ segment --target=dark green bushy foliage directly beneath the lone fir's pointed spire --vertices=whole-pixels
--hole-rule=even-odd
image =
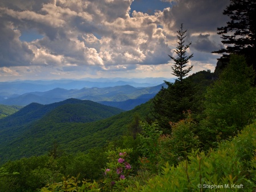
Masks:
[[[163,133],[171,134],[169,122],[179,122],[186,118],[184,112],[191,110],[193,114],[201,112],[201,93],[195,84],[185,78],[182,82],[168,83],[168,88],[159,91],[154,99],[152,114],[158,121]]]

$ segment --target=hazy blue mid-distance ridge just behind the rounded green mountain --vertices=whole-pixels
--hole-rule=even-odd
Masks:
[[[121,108],[122,110],[131,110],[135,106],[141,105],[153,98],[156,93],[166,84],[152,87],[133,87],[131,85],[122,85],[114,87],[84,87],[82,89],[62,89],[55,88],[48,91],[35,91],[24,93],[22,95],[12,95],[10,98],[1,98],[3,105],[26,106],[36,102],[43,105],[64,101],[68,98],[77,98],[81,100],[90,100],[102,103],[108,106]]]

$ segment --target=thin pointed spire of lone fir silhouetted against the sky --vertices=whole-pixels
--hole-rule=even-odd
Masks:
[[[191,45],[191,43],[189,43],[188,45],[184,45],[185,41],[185,33],[187,32],[187,30],[183,31],[183,24],[181,24],[180,26],[180,30],[177,31],[177,39],[179,39],[179,41],[177,41],[178,46],[176,47],[176,50],[174,51],[175,53],[177,53],[177,58],[174,58],[172,56],[169,55],[169,57],[171,57],[172,60],[175,61],[174,66],[172,66],[172,71],[176,77],[178,77],[179,81],[182,81],[183,78],[185,76],[188,75],[188,73],[192,70],[193,65],[189,66],[189,68],[184,69],[188,63],[188,60],[191,59],[193,57],[193,54],[190,56],[186,56],[186,50],[189,48],[189,46]]]

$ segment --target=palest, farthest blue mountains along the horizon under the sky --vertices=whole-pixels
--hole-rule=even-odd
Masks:
[[[55,88],[82,89],[92,87],[113,87],[131,85],[133,87],[150,87],[162,84],[163,81],[174,82],[174,78],[84,78],[81,80],[37,80],[0,82],[0,100],[13,94],[24,94],[35,91],[48,91]]]

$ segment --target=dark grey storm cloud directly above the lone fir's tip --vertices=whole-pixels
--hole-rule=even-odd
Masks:
[[[178,0],[171,18],[176,28],[183,23],[189,32],[216,31],[229,19],[222,14],[229,3],[230,0]]]

